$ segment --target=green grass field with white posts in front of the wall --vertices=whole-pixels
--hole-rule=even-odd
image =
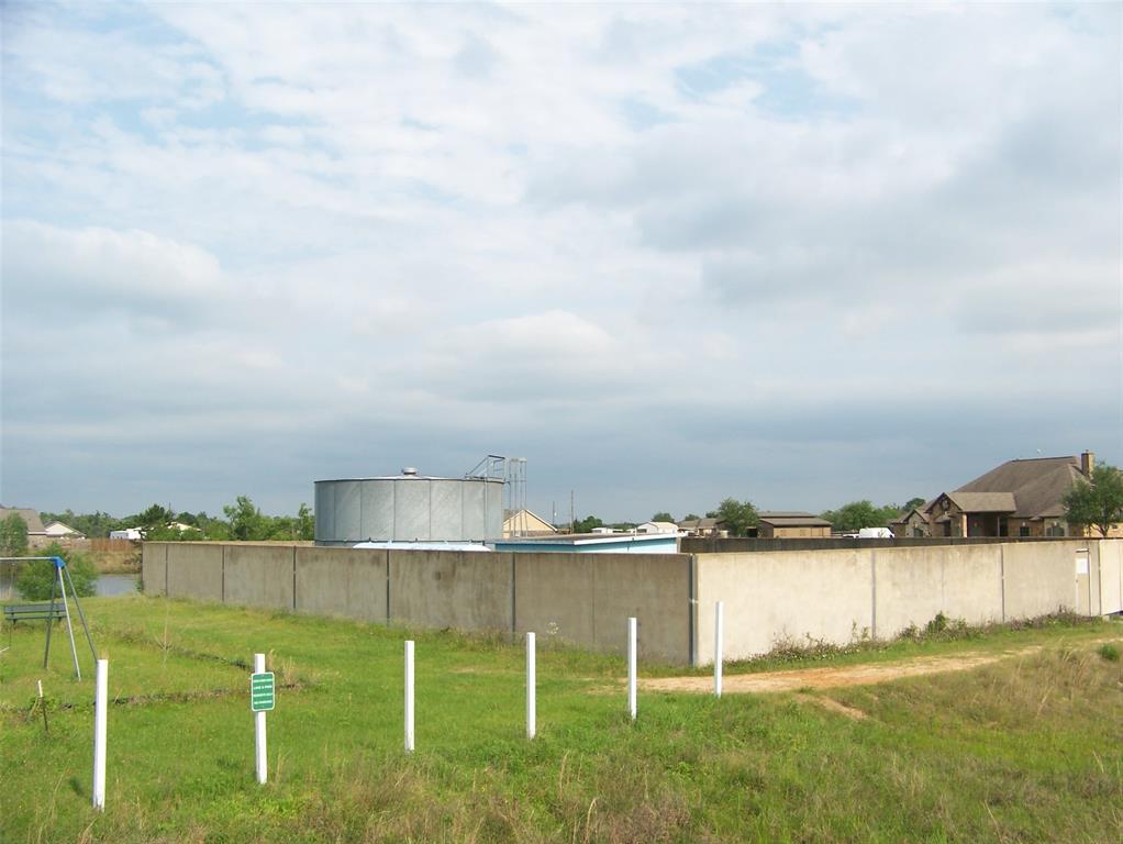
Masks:
[[[4,844],[1123,840],[1123,663],[1104,646],[1123,642],[1119,623],[789,652],[730,670],[1040,646],[829,693],[647,693],[634,724],[619,657],[540,634],[539,737],[527,742],[523,651],[499,637],[140,596],[83,606],[115,698],[107,810],[90,808],[93,683],[71,679],[64,630],[44,671],[43,624],[20,624],[0,655]],[[408,637],[412,755],[401,750]],[[247,698],[256,651],[280,687],[264,787]],[[674,673],[690,672],[641,665]],[[28,717],[38,679],[49,734]]]

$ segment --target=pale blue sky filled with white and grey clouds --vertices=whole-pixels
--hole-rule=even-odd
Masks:
[[[1120,3],[2,7],[0,501],[1123,464]]]

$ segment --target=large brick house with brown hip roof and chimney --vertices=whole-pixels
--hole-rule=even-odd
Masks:
[[[919,508],[920,514],[909,514],[911,529],[904,535],[1084,536],[1083,527],[1065,519],[1063,498],[1074,483],[1090,478],[1094,466],[1092,452],[1006,461],[959,489],[941,492]]]

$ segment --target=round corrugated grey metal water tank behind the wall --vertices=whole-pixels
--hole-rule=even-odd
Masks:
[[[412,468],[381,478],[316,481],[316,544],[483,542],[503,535],[503,481],[433,478]]]

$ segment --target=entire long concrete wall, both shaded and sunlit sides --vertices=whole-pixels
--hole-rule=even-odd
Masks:
[[[1087,561],[1087,572],[1084,563]],[[938,612],[973,624],[1060,608],[1123,611],[1123,541],[956,544],[729,554],[384,551],[146,543],[149,595],[191,597],[420,627],[535,630],[622,652],[640,621],[646,660],[713,660],[783,641],[891,638]]]

